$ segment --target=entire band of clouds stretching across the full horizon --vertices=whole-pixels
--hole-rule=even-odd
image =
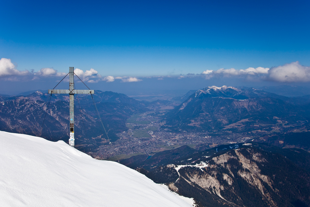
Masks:
[[[81,69],[74,69],[74,73],[83,81],[87,83],[98,83],[99,81],[114,82],[119,80],[121,83],[139,82],[142,79],[137,77],[127,76],[102,76],[95,69],[91,68],[85,72]],[[1,58],[0,59],[0,79],[9,81],[27,81],[36,80],[41,78],[57,78],[64,77],[67,73],[58,72],[54,68],[41,68],[39,71],[34,70],[17,70],[16,66],[11,62],[11,59]],[[276,82],[310,82],[310,67],[300,65],[298,61],[280,65],[272,68],[247,68],[244,70],[236,70],[234,68],[219,70],[205,70],[201,74],[188,73],[187,78],[204,77],[205,79],[211,78],[243,78],[247,80],[269,80]],[[156,78],[163,80],[164,78],[177,78],[184,79],[185,75],[180,74],[176,77],[171,76],[153,76],[144,78]]]

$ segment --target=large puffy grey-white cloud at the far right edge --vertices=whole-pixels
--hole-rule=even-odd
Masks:
[[[270,69],[269,78],[279,82],[308,82],[310,67],[300,65],[298,61]]]

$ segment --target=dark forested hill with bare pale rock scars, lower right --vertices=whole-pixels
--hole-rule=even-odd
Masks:
[[[309,205],[310,174],[279,154],[253,148],[231,150],[213,157],[208,167],[184,167],[180,180],[171,183],[181,194],[186,188],[208,195],[214,204],[227,206]],[[293,184],[294,183],[294,184]],[[194,195],[194,194],[193,194]],[[207,196],[206,196],[207,197]],[[207,199],[197,196],[206,206]],[[220,206],[220,205],[219,205]],[[298,206],[298,205],[297,205]]]

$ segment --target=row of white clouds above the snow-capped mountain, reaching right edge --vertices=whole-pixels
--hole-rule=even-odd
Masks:
[[[308,82],[310,81],[310,67],[300,65],[298,61],[272,68],[247,68],[236,70],[234,68],[219,70],[205,70],[201,73],[206,79],[213,77],[232,77],[271,80],[277,82]]]

